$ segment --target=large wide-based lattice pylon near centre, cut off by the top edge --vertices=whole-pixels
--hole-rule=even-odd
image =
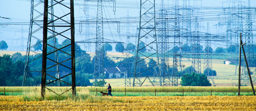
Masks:
[[[145,40],[147,39],[147,40]],[[139,44],[145,44],[144,47],[139,47]],[[150,54],[145,54],[141,52],[144,49],[150,50]],[[137,41],[137,52],[135,60],[135,71],[133,77],[132,86],[141,86],[148,78],[150,83],[154,86],[150,80],[150,76],[143,76],[143,72],[150,71],[154,67],[158,67],[157,71],[150,71],[154,75],[157,75],[160,80],[160,86],[162,86],[161,71],[159,67],[159,58],[158,58],[158,46],[157,46],[157,36],[156,36],[156,11],[155,11],[155,0],[140,0],[140,22],[139,22],[139,35]],[[154,65],[144,65],[145,62],[153,60],[152,57],[156,57],[156,64]],[[154,60],[153,60],[154,61]],[[155,74],[158,73],[158,74]],[[141,81],[141,77],[144,80]]]

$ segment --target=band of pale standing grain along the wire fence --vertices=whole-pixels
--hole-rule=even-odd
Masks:
[[[0,87],[0,93],[4,92],[23,92],[23,93],[31,93],[31,92],[37,92],[38,94],[41,92],[41,87]],[[70,89],[71,87],[48,87],[52,90],[56,90],[56,92],[65,92],[67,89]],[[83,91],[88,92],[96,92],[97,91],[103,91],[106,92],[107,87],[76,87],[76,91],[79,94]],[[178,86],[178,87],[112,87],[112,92],[154,92],[156,89],[156,92],[182,92],[182,89],[184,89],[184,92],[209,92],[212,90],[213,92],[237,92],[238,88],[235,86],[228,86],[228,87],[189,87],[189,86]],[[36,90],[37,89],[37,90]],[[256,87],[254,88],[256,89]],[[50,92],[49,90],[46,90]],[[241,92],[252,92],[252,88],[250,86],[243,86],[241,87]],[[69,91],[67,94],[70,94],[71,91]]]

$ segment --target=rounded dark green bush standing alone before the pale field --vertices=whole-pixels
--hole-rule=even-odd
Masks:
[[[198,73],[186,73],[181,77],[182,86],[211,86],[210,81],[206,75],[200,75]]]

